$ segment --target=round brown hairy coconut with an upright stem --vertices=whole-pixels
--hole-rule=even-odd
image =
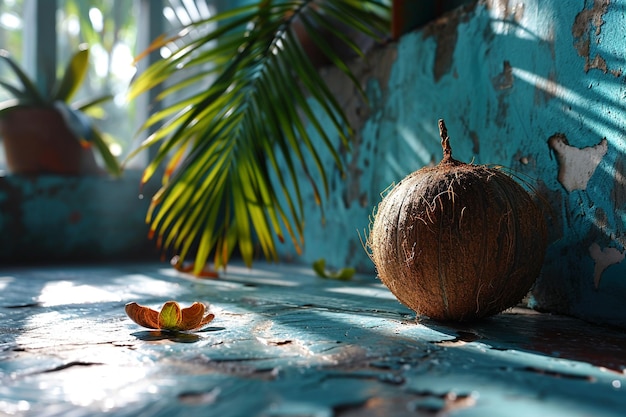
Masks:
[[[547,226],[504,170],[452,158],[400,181],[374,212],[367,244],[381,281],[418,316],[470,321],[514,306],[540,273]]]

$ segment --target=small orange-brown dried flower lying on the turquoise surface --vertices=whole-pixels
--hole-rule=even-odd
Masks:
[[[163,304],[160,312],[137,303],[126,304],[126,314],[135,323],[148,329],[186,331],[196,330],[215,318],[207,313],[204,304],[195,302],[190,307],[180,308],[176,301]]]

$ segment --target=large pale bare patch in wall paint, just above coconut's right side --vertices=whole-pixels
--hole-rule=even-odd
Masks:
[[[548,146],[556,154],[559,163],[558,180],[571,193],[587,188],[589,179],[606,155],[608,141],[604,138],[595,146],[579,149],[570,146],[563,133],[555,133],[548,139]]]

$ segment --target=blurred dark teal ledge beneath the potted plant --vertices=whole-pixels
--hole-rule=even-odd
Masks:
[[[140,176],[0,176],[0,265],[155,259]]]

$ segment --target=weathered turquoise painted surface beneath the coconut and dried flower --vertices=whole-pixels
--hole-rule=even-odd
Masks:
[[[196,333],[143,329],[130,301],[210,304]],[[623,416],[626,332],[514,309],[416,320],[372,276],[233,265],[0,270],[0,415]]]

